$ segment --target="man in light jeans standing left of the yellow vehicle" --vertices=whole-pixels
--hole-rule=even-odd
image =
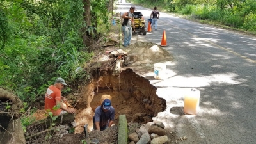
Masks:
[[[124,22],[122,23],[122,31],[124,32],[124,47],[127,47],[131,43],[132,26],[134,26],[134,11],[135,7],[131,6],[130,10],[122,15],[122,18],[124,18]]]

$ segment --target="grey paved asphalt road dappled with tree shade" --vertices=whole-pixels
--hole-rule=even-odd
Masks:
[[[117,12],[131,5],[120,3]],[[149,19],[152,10],[136,8]],[[174,60],[164,81],[150,80],[168,105],[154,120],[188,137],[178,143],[256,143],[256,38],[160,12],[157,31],[138,40],[160,44],[164,30]],[[190,88],[201,93],[197,115],[182,113]]]

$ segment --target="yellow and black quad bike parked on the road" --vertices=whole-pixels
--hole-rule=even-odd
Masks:
[[[142,33],[142,35],[147,34],[147,27],[145,26],[145,20],[141,12],[134,12],[134,25],[135,25],[135,33]],[[134,29],[132,28],[132,31]]]

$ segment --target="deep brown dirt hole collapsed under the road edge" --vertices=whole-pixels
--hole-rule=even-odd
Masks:
[[[118,125],[119,115],[126,115],[127,122],[152,122],[152,117],[166,109],[166,100],[158,97],[156,90],[148,79],[129,68],[119,75],[113,75],[111,70],[96,72],[93,80],[81,91],[83,98],[76,108],[83,109],[86,104],[87,110],[80,111],[76,120],[87,118],[84,122],[92,129],[95,108],[108,98],[115,108],[115,125]]]

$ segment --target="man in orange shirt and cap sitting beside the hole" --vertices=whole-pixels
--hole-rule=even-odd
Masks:
[[[45,110],[50,110],[54,116],[63,115],[64,113],[74,114],[76,110],[74,108],[67,108],[63,102],[67,99],[61,96],[61,90],[67,86],[64,79],[59,77],[56,79],[55,84],[49,86],[45,93]],[[63,100],[63,102],[61,102]],[[54,109],[56,107],[56,109]]]

